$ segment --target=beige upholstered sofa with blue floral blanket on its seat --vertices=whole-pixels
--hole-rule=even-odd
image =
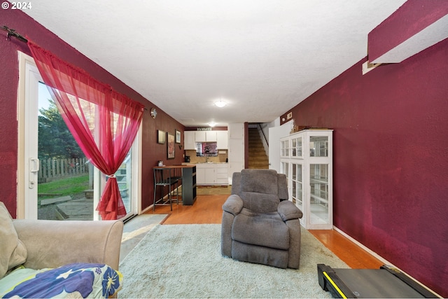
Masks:
[[[0,298],[110,298],[123,221],[13,220],[0,202]]]

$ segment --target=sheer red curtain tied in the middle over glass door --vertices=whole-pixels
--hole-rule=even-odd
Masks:
[[[71,134],[93,165],[109,176],[97,211],[103,220],[122,218],[126,210],[114,174],[130,151],[144,106],[32,41],[28,46]]]

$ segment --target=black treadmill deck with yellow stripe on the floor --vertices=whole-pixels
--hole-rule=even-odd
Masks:
[[[394,267],[332,269],[318,264],[321,288],[334,298],[439,298]]]

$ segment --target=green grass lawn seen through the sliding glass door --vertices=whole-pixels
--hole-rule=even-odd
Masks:
[[[61,197],[69,195],[71,198],[83,197],[84,190],[89,189],[89,175],[83,176],[69,176],[62,179],[55,179],[48,183],[38,184],[38,194],[45,194],[38,196],[38,202],[45,198]],[[54,194],[54,195],[47,195]]]

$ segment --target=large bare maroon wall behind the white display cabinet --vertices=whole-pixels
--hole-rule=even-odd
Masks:
[[[335,226],[447,297],[448,39],[364,76],[363,62],[293,118],[334,129]]]

